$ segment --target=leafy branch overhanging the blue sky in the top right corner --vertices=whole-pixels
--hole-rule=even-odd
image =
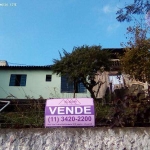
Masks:
[[[134,19],[133,16],[145,14],[150,10],[149,0],[134,0],[132,4],[127,4],[124,8],[117,11],[117,20],[120,22],[130,22]]]

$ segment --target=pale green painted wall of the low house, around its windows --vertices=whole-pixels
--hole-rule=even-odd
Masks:
[[[9,86],[11,74],[27,74],[26,86]],[[52,81],[46,82],[46,75],[52,75]],[[73,93],[61,93],[61,77],[51,70],[0,70],[0,98],[25,99],[71,98]],[[78,93],[76,97],[90,97],[89,92]]]

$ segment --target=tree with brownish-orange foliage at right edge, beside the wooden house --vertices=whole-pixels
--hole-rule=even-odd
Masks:
[[[140,81],[150,81],[150,39],[146,38],[146,30],[140,27],[129,27],[133,36],[125,47],[121,58],[123,72]]]

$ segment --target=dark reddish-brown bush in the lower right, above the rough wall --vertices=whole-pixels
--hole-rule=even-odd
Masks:
[[[126,92],[127,89],[124,89]],[[144,93],[132,96],[132,93],[119,98],[116,95],[111,126],[149,126],[150,100]]]

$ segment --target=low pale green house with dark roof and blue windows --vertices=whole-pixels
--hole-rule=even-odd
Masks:
[[[90,97],[80,83],[76,97]],[[73,84],[53,74],[51,66],[9,66],[0,61],[0,99],[73,97]]]

